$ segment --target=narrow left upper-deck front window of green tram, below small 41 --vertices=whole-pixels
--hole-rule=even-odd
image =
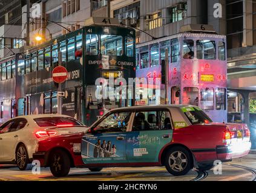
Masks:
[[[98,36],[96,34],[86,35],[86,54],[97,55],[98,54]]]

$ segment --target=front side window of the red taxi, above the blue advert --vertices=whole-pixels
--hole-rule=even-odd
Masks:
[[[96,133],[125,132],[131,112],[116,112],[107,116],[93,131]]]

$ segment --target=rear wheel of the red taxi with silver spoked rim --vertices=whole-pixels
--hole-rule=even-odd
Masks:
[[[171,148],[165,157],[165,167],[173,176],[183,176],[192,168],[192,159],[183,147]]]

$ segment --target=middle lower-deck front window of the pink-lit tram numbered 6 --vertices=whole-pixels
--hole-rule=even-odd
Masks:
[[[213,110],[214,109],[214,89],[208,87],[206,89],[201,89],[200,91],[200,107],[203,110]]]

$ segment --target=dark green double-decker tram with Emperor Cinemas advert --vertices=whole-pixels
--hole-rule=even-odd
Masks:
[[[1,107],[7,109],[3,114],[10,113],[8,109],[12,108],[15,116],[58,113],[58,91],[64,94],[62,114],[86,125],[93,124],[110,109],[133,106],[133,97],[99,99],[96,94],[100,87],[100,90],[114,92],[120,87],[121,83],[116,81],[119,78],[128,83],[129,78],[136,77],[135,51],[135,31],[114,25],[87,26],[33,47],[20,54],[15,62],[13,68],[16,68],[18,81],[10,81],[10,84],[15,84],[11,87],[18,91],[11,97],[15,98],[15,93],[22,94],[16,97],[15,106]],[[52,78],[52,71],[59,63],[68,71],[61,89]],[[110,79],[114,84],[110,84]]]

